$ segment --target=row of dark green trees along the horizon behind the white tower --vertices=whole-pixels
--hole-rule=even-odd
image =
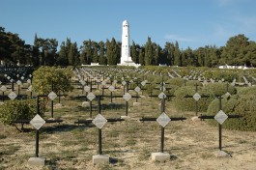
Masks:
[[[86,40],[78,47],[67,38],[57,50],[56,39],[43,39],[35,35],[34,45],[26,44],[17,34],[0,27],[0,61],[5,65],[81,66],[91,63],[117,65],[121,58],[121,42],[114,38],[105,42]],[[192,50],[180,49],[178,42],[165,42],[161,47],[148,37],[144,45],[131,42],[132,61],[142,66],[194,66],[213,68],[220,65],[256,67],[256,42],[243,34],[231,37],[225,46],[206,45]]]

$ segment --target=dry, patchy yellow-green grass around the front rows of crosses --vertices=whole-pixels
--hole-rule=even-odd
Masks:
[[[41,128],[39,155],[46,158],[46,165],[39,169],[255,169],[256,132],[222,129],[223,151],[232,157],[216,157],[218,128],[208,125],[207,121],[191,121],[194,112],[180,113],[172,101],[166,101],[165,113],[187,120],[170,122],[165,128],[164,151],[171,155],[170,160],[151,160],[151,153],[160,150],[160,126],[138,120],[143,116],[158,117],[160,102],[146,95],[138,99],[139,106],[132,105],[135,99],[128,101],[128,121],[107,123],[102,128],[102,154],[110,156],[111,162],[94,165],[92,156],[98,155],[98,128],[92,124],[74,124],[78,119],[89,118],[89,106],[82,106],[84,99],[77,98],[78,94],[78,90],[72,92],[61,99],[62,106],[54,108],[54,118],[62,119],[63,123],[45,124]],[[57,99],[54,102],[56,104]],[[101,114],[105,118],[126,114],[125,99],[113,99],[115,105],[109,102],[108,98],[101,100]],[[93,101],[93,105],[96,104],[97,101]],[[44,119],[50,117],[50,104],[47,108]],[[93,109],[94,118],[98,112],[96,107]],[[27,161],[35,156],[35,129],[25,125],[24,132],[19,132],[3,124],[0,128],[0,169],[34,170]]]

